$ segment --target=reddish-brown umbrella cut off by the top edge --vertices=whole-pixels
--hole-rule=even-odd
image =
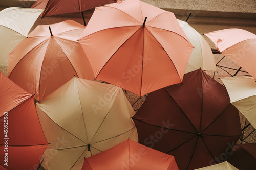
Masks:
[[[46,17],[63,13],[83,12],[114,2],[116,0],[37,0],[31,8],[45,9],[41,17]]]

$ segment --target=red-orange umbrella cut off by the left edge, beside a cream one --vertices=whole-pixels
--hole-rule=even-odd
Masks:
[[[0,71],[0,169],[34,169],[48,142],[36,114],[33,95]]]

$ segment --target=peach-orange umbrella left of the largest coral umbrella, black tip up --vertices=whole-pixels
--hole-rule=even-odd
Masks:
[[[93,80],[92,67],[76,41],[83,29],[84,26],[72,20],[37,26],[10,53],[7,76],[35,94],[38,101],[67,83],[74,75]]]

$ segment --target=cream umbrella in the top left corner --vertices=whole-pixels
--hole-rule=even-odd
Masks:
[[[28,36],[42,9],[11,7],[0,11],[0,63]]]

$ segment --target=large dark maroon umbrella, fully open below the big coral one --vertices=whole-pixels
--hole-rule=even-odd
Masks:
[[[175,155],[181,170],[220,163],[242,135],[226,88],[201,69],[150,93],[133,120],[139,142]]]

